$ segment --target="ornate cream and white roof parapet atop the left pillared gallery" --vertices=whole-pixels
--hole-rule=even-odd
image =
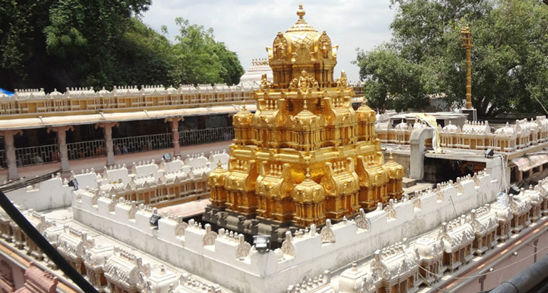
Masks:
[[[11,97],[0,99],[0,119],[16,118],[17,115],[52,116],[60,114],[87,114],[89,112],[117,112],[120,109],[154,110],[179,109],[181,107],[211,107],[214,105],[241,104],[251,100],[258,84],[181,85],[178,88],[159,86],[115,87],[95,91],[93,87],[67,88],[64,93],[43,89],[15,90]],[[363,85],[349,84],[357,96],[363,95]],[[1,95],[0,95],[1,97]]]

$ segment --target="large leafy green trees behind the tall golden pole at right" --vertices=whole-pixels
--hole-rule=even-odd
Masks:
[[[463,106],[472,32],[472,104],[479,116],[544,112],[548,104],[548,6],[534,0],[391,0],[389,43],[357,50],[367,103],[427,109],[429,95]],[[537,101],[537,99],[539,101]]]

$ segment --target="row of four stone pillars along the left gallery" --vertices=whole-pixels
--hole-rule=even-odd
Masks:
[[[179,144],[179,121],[182,121],[182,117],[167,118],[166,122],[172,123],[172,145],[174,155],[179,154],[181,151]],[[95,127],[101,127],[105,136],[105,144],[107,151],[107,166],[116,164],[114,156],[114,143],[112,142],[112,127],[116,127],[117,122],[98,123]],[[57,143],[59,145],[59,159],[61,163],[61,169],[63,173],[70,171],[68,164],[68,148],[67,148],[67,131],[72,131],[72,126],[60,126],[51,127],[48,132],[56,132]],[[8,167],[8,178],[19,178],[17,172],[17,158],[14,147],[14,135],[23,134],[21,130],[3,130],[0,131],[0,136],[4,137],[4,149],[6,150],[6,165]]]

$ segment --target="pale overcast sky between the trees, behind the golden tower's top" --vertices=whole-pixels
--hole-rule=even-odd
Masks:
[[[370,50],[391,38],[394,10],[389,0],[152,0],[143,21],[157,31],[167,26],[170,38],[178,33],[174,20],[179,16],[211,27],[216,41],[238,53],[247,70],[251,59],[267,57],[265,47],[272,46],[278,31],[285,32],[297,21],[300,2],[305,21],[317,31],[327,31],[333,45],[339,45],[335,78],[345,70],[349,80],[358,80],[359,69],[350,63],[356,48]]]

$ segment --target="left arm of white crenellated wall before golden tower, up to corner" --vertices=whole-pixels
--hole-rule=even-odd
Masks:
[[[217,238],[215,245],[202,245],[204,229],[187,228],[184,237],[177,237],[174,233],[174,220],[159,220],[159,229],[152,228],[149,217],[152,213],[139,211],[135,219],[129,219],[130,207],[117,204],[115,212],[108,212],[109,199],[100,198],[98,206],[90,207],[91,198],[82,196],[81,206],[87,206],[88,210],[80,208],[80,203],[73,207],[75,219],[110,235],[127,245],[167,261],[172,265],[181,267],[196,275],[204,276],[214,282],[226,284],[236,292],[260,292],[258,288],[264,288],[260,272],[258,271],[262,255],[254,255],[252,260],[236,260],[237,243]],[[106,211],[106,214],[105,214]],[[171,223],[165,223],[171,222]],[[169,228],[164,229],[164,228]],[[162,229],[162,233],[159,230]],[[159,235],[162,235],[161,237]],[[183,245],[182,247],[181,245]],[[276,262],[275,257],[270,257],[270,266]],[[222,274],[212,274],[215,270]]]

